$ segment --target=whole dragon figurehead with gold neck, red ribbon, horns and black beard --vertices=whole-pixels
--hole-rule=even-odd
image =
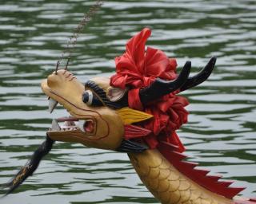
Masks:
[[[193,77],[187,61],[179,74],[177,63],[159,49],[147,47],[150,29],[142,29],[115,58],[114,76],[82,84],[65,69],[42,81],[50,112],[61,104],[70,116],[54,119],[31,159],[6,184],[9,194],[37,169],[54,141],[82,143],[87,147],[127,152],[140,179],[162,203],[254,204],[254,199],[234,198],[244,188],[208,176],[197,163],[186,162],[176,130],[187,122],[186,98],[178,93],[205,81],[216,58]],[[68,62],[67,62],[68,64]],[[234,198],[234,199],[233,199]]]

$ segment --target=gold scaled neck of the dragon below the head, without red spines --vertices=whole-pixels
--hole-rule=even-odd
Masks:
[[[232,203],[232,200],[214,194],[182,175],[158,150],[128,155],[142,182],[164,204]]]

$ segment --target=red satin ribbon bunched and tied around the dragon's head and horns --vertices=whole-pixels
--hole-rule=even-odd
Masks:
[[[159,139],[173,143],[184,151],[181,141],[175,130],[187,122],[188,112],[185,106],[188,101],[182,96],[176,96],[178,92],[171,92],[161,99],[143,107],[139,99],[139,89],[150,85],[157,77],[163,80],[174,80],[176,76],[177,62],[174,58],[168,58],[159,49],[145,45],[151,31],[142,29],[126,44],[126,52],[115,58],[116,74],[110,78],[110,85],[118,88],[130,88],[128,103],[130,108],[141,110],[154,115],[154,119],[144,121],[138,125],[149,129],[153,134],[144,137],[146,143],[155,148]]]

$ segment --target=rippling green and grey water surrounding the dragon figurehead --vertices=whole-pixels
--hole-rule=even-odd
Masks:
[[[0,2],[0,183],[7,182],[45,139],[53,116],[40,82],[51,73],[72,30],[93,4],[82,0]],[[183,93],[189,124],[178,134],[190,161],[247,186],[256,197],[256,1],[107,1],[86,26],[70,70],[86,81],[114,72],[114,57],[143,27],[148,45],[217,68]],[[38,171],[0,203],[157,203],[125,154],[56,143]]]

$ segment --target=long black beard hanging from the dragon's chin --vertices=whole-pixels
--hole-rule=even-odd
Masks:
[[[38,149],[34,151],[34,154],[32,155],[31,159],[28,160],[28,162],[25,164],[24,167],[21,168],[20,171],[18,171],[18,174],[15,175],[10,182],[2,185],[3,188],[7,188],[6,195],[12,193],[30,175],[33,175],[34,171],[38,168],[38,165],[42,160],[42,158],[50,152],[53,146],[53,143],[54,143],[54,140],[50,139],[50,137],[47,135],[46,141],[44,141],[38,147]]]

